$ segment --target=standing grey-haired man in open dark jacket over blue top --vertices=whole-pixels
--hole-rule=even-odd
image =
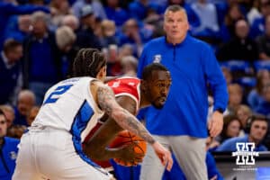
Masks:
[[[48,30],[48,16],[31,15],[32,31],[23,43],[23,84],[41,104],[48,88],[62,78],[60,52],[55,34]]]

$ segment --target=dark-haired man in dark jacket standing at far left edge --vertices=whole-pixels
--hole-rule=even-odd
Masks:
[[[19,85],[19,76],[22,73],[19,63],[22,57],[23,46],[20,42],[12,39],[4,41],[4,49],[0,56],[0,104],[12,103],[14,100],[15,89]]]

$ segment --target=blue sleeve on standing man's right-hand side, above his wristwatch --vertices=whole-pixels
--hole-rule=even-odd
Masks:
[[[206,76],[207,82],[211,86],[211,91],[213,93],[213,111],[217,109],[225,111],[229,100],[226,80],[221,72],[220,65],[218,60],[215,58],[211,47],[206,45],[205,49],[202,50],[202,53],[202,66],[204,67],[204,75]]]

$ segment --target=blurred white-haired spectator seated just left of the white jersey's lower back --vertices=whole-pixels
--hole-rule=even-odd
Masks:
[[[26,116],[35,104],[35,95],[29,90],[23,90],[18,94],[18,103],[14,108],[14,124],[28,126]]]

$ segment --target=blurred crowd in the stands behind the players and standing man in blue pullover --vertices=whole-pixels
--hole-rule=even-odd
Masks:
[[[164,35],[169,4],[184,7],[189,33],[211,45],[228,84],[223,131],[210,150],[234,151],[236,141],[270,149],[270,0],[1,1],[0,109],[7,136],[21,138],[48,88],[70,76],[78,49],[102,50],[109,76],[136,76],[143,45]],[[209,117],[211,110],[210,91]]]

